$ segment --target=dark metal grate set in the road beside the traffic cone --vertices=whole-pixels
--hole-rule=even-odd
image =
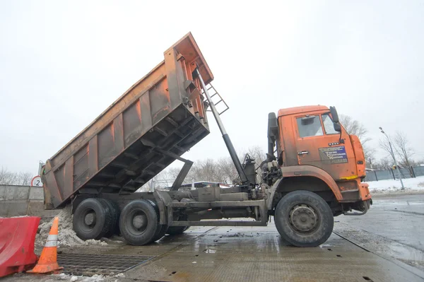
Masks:
[[[150,259],[153,257],[124,254],[57,254],[57,262],[59,266],[64,267],[65,274],[83,276],[119,274]]]

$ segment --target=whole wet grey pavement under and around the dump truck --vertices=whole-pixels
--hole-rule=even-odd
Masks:
[[[375,199],[365,216],[335,218],[334,233],[315,248],[288,246],[271,222],[254,228],[192,227],[143,247],[111,242],[62,252],[153,257],[105,281],[424,281],[423,206],[424,195]],[[19,274],[4,281],[9,279],[52,276]],[[71,280],[53,280],[66,279]]]

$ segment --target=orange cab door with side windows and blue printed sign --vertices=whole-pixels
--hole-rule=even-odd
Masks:
[[[303,114],[293,118],[299,165],[322,168],[334,180],[357,175],[355,155],[348,134],[334,130],[329,113]],[[340,137],[342,142],[340,142]]]

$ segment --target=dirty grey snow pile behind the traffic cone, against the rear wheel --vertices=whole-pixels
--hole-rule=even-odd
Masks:
[[[88,246],[88,245],[107,245],[107,242],[102,242],[100,240],[81,240],[78,238],[76,233],[72,229],[72,214],[71,214],[71,205],[66,206],[61,212],[57,215],[59,216],[59,234],[57,247],[78,247],[78,246]],[[35,237],[35,246],[43,247],[49,235],[50,228],[52,228],[52,221],[41,223],[38,228],[40,229],[39,233]]]

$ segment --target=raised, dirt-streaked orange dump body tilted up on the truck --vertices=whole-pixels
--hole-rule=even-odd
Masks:
[[[75,194],[129,194],[208,133],[198,78],[213,74],[191,33],[86,129],[49,158],[42,172],[45,208]]]

